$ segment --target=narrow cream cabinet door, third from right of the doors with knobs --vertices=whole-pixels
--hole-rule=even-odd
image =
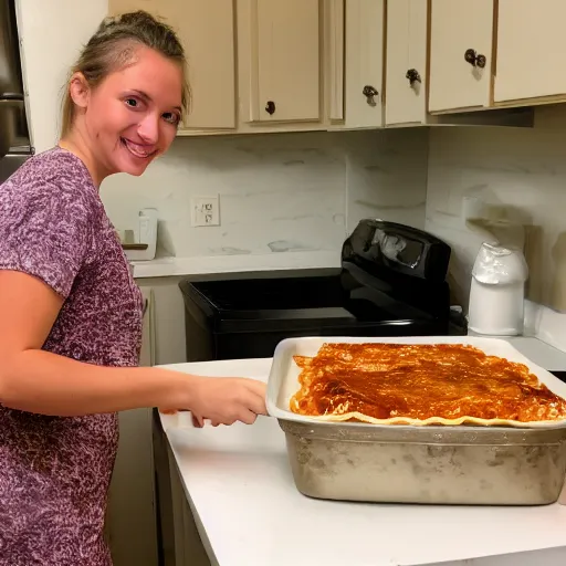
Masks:
[[[384,0],[346,0],[345,126],[384,124]]]

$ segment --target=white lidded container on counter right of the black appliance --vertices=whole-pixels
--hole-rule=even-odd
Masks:
[[[491,336],[522,334],[527,277],[521,250],[484,242],[472,270],[468,328]]]

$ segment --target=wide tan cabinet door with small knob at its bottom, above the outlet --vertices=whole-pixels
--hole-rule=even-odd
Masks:
[[[321,0],[238,0],[237,7],[241,120],[322,120]]]

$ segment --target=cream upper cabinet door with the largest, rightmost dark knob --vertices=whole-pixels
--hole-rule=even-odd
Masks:
[[[494,0],[431,0],[429,111],[491,104]]]

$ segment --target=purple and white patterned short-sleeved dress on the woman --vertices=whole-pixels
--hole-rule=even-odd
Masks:
[[[43,349],[138,364],[142,294],[73,154],[39,154],[0,186],[0,269],[39,277],[64,297]],[[115,413],[48,417],[0,405],[1,566],[112,564],[103,525],[117,441]]]

